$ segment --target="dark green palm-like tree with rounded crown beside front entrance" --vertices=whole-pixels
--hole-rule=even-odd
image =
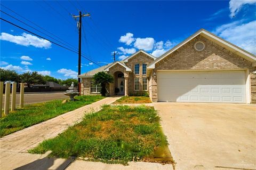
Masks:
[[[97,72],[97,74],[95,74],[93,76],[93,84],[97,85],[100,84],[101,85],[101,95],[102,96],[106,96],[107,90],[106,90],[106,85],[107,83],[113,83],[114,82],[114,77],[110,74],[108,74],[105,71],[101,71],[101,72]]]

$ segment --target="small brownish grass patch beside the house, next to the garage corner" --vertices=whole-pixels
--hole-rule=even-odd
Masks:
[[[123,96],[116,100],[115,103],[151,103],[151,100],[145,96]]]

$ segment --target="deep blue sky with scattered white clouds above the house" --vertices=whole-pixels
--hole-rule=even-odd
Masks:
[[[256,54],[255,0],[1,1],[1,4],[3,12],[60,42],[63,40],[73,45],[67,44],[73,49],[78,46],[78,31],[71,14],[77,15],[78,10],[89,12],[91,17],[83,18],[82,53],[101,66],[113,62],[113,51],[119,52],[117,60],[140,49],[160,56],[200,28]],[[1,18],[57,42],[3,12]],[[61,79],[77,75],[76,53],[2,20],[0,39],[1,68],[19,73],[38,71]],[[97,64],[82,58],[82,73],[97,67]]]

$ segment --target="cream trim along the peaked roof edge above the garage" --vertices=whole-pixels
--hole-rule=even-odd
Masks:
[[[171,53],[173,53],[174,51],[178,50],[181,46],[185,45],[191,39],[195,38],[198,35],[202,35],[203,37],[205,37],[207,39],[210,39],[211,41],[214,41],[215,43],[218,43],[218,45],[221,45],[223,47],[228,48],[228,50],[230,50],[231,52],[233,52],[233,53],[235,53],[239,56],[242,56],[246,60],[249,60],[251,62],[256,62],[256,56],[255,55],[243,50],[242,48],[240,48],[240,47],[238,47],[234,44],[231,44],[230,42],[225,41],[224,39],[210,33],[209,31],[206,31],[205,29],[200,29],[195,34],[193,34],[190,37],[188,37],[187,39],[185,39],[185,41],[181,42],[177,46],[173,47],[171,50],[169,50],[166,53],[164,53],[163,55],[159,56],[159,58],[157,58],[155,61],[151,62],[147,68],[148,69],[154,69],[155,64],[157,62],[161,61],[166,56],[168,56]]]

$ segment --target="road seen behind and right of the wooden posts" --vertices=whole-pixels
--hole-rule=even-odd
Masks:
[[[5,96],[5,95],[4,95]],[[3,106],[4,106],[4,96],[3,96]],[[10,95],[10,106],[11,106],[11,97]],[[40,103],[55,99],[67,99],[68,96],[64,95],[63,92],[33,92],[24,94],[24,104],[31,103]],[[20,94],[16,94],[16,105],[20,104]]]

